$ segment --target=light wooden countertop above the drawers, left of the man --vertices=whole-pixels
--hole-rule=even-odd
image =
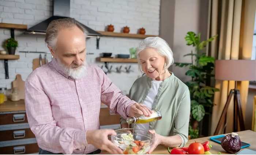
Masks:
[[[11,112],[11,111],[25,111],[25,101],[10,101],[0,104],[0,112]]]

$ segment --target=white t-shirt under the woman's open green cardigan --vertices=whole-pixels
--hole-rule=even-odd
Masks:
[[[143,104],[146,105],[151,110],[152,110],[152,105],[155,101],[155,97],[157,96],[158,89],[159,89],[161,83],[162,83],[162,81],[152,80],[152,87],[150,88],[150,90],[147,94],[147,97],[143,102]],[[149,129],[149,123],[136,124],[135,129],[148,130]]]

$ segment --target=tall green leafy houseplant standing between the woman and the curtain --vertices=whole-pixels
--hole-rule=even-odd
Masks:
[[[204,107],[212,107],[214,92],[219,91],[217,88],[210,87],[210,79],[214,76],[212,71],[214,69],[215,59],[202,52],[206,45],[216,37],[217,35],[210,37],[208,40],[201,41],[200,33],[196,35],[194,32],[188,32],[185,40],[187,41],[187,45],[195,47],[195,52],[191,51],[191,53],[184,55],[184,57],[190,56],[191,63],[175,63],[179,67],[188,66],[189,69],[185,74],[191,76],[191,80],[185,82],[189,88],[191,98],[192,117],[189,126],[189,135],[191,135],[191,138],[198,136],[198,122],[204,118],[206,113]]]

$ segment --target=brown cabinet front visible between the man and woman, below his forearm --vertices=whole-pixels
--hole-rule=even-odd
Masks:
[[[112,115],[109,112],[109,108],[101,108],[99,112],[99,124],[101,126],[120,124],[120,115]]]

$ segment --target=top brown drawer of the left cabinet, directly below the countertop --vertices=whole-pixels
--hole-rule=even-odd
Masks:
[[[0,114],[0,125],[17,123],[27,123],[26,113]]]

